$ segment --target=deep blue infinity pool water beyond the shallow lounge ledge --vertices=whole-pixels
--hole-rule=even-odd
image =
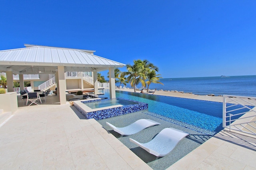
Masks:
[[[219,132],[223,129],[221,102],[148,95],[125,91],[116,91],[116,97],[147,103],[148,110],[153,113],[188,123],[202,129],[214,132]],[[241,106],[237,106],[237,108],[238,107]],[[247,110],[241,109],[238,112],[241,113],[243,111]]]

